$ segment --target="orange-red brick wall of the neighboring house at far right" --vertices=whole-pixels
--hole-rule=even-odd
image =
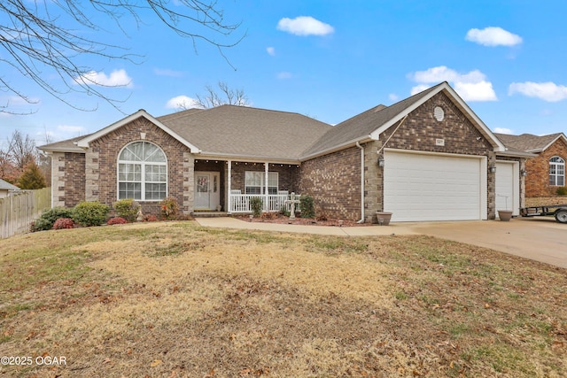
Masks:
[[[549,185],[549,159],[554,156],[567,161],[567,144],[558,139],[547,150],[540,152],[537,158],[528,158],[525,162],[525,197],[556,196],[556,186]]]

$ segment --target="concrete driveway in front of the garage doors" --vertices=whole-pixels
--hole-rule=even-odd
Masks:
[[[407,227],[416,234],[478,245],[567,268],[567,224],[555,222],[553,217],[515,218],[509,222],[423,222]]]

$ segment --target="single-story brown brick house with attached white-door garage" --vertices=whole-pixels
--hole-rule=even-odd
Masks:
[[[486,220],[523,205],[531,156],[507,150],[447,82],[335,127],[290,112],[223,105],[163,117],[140,110],[94,134],[41,147],[53,206],[175,197],[183,212],[278,211],[292,191],[327,218]],[[504,200],[504,198],[506,200]]]

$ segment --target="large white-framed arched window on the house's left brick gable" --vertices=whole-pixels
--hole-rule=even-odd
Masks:
[[[134,142],[118,156],[118,199],[160,201],[167,197],[167,158],[157,145]]]

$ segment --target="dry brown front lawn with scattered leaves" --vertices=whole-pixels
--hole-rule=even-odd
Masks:
[[[16,377],[567,375],[567,274],[425,236],[165,222],[0,241]]]

